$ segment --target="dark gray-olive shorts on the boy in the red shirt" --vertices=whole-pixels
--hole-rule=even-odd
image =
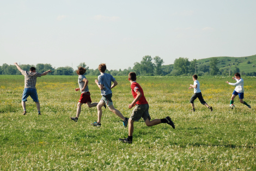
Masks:
[[[132,111],[131,117],[132,120],[134,121],[138,121],[139,119],[143,118],[144,121],[147,120],[147,118],[150,118],[149,115],[149,104],[144,104],[144,105],[137,105],[135,106],[135,108]]]

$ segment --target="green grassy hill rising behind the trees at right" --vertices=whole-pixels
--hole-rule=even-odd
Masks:
[[[213,57],[212,57],[213,58]],[[231,70],[235,69],[235,66],[240,69],[240,72],[256,72],[256,54],[248,57],[217,57],[218,58],[218,68],[229,69],[229,64],[231,64]],[[197,59],[198,65],[210,65],[211,58]],[[163,65],[163,70],[173,69],[174,64]]]

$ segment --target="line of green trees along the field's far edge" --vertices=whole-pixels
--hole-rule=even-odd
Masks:
[[[180,76],[180,75],[233,75],[236,72],[240,72],[240,69],[235,66],[234,70],[219,69],[217,64],[219,60],[217,57],[210,58],[210,63],[201,64],[197,62],[197,59],[189,61],[188,58],[176,58],[173,65],[162,65],[163,59],[159,56],[152,58],[151,56],[144,56],[140,63],[134,63],[133,68],[129,67],[128,69],[119,70],[107,70],[106,73],[113,76],[128,75],[129,72],[136,72],[137,75],[141,76]],[[29,69],[34,65],[20,65],[22,70],[29,71]],[[100,75],[98,69],[89,69],[89,66],[86,63],[80,63],[83,68],[86,68],[86,75],[97,76]],[[34,66],[36,72],[44,72],[47,70],[52,70],[48,75],[76,75],[76,70],[70,66],[59,67],[57,69],[53,68],[51,64],[36,64]],[[256,72],[241,73],[248,76],[256,76]],[[0,66],[0,75],[21,75],[21,72],[17,70],[15,65],[3,64]]]

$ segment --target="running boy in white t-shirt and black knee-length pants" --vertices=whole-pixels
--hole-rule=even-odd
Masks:
[[[190,87],[188,89],[194,88],[194,94],[192,95],[191,99],[190,99],[190,103],[192,106],[192,112],[195,111],[194,109],[194,100],[196,100],[197,98],[200,100],[200,102],[202,103],[202,105],[205,105],[206,107],[208,107],[210,109],[210,111],[212,112],[212,107],[209,106],[203,99],[201,90],[200,90],[200,83],[197,80],[197,75],[193,75],[192,76],[193,81],[194,81],[194,85],[190,84]]]

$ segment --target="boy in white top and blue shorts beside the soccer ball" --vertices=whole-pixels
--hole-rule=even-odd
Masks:
[[[231,96],[230,105],[234,103],[235,96],[238,95],[240,103],[243,103],[243,105],[246,105],[248,108],[251,108],[250,105],[243,101],[243,92],[245,90],[243,89],[243,78],[241,78],[239,72],[236,72],[235,77],[233,77],[233,79],[236,80],[236,83],[230,83],[226,81],[226,83],[228,83],[229,85],[236,86]]]

